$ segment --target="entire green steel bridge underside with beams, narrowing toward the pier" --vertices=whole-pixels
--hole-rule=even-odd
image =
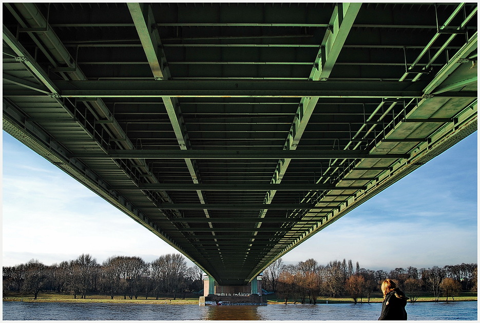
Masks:
[[[476,3],[3,6],[4,130],[220,285],[477,129]]]

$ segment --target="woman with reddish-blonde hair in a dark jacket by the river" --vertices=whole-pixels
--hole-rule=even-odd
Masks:
[[[381,283],[383,293],[383,302],[381,304],[381,314],[379,320],[406,320],[408,297],[399,290],[391,279],[385,279]]]

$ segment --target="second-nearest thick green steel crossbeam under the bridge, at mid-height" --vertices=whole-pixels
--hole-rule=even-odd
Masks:
[[[79,152],[74,158],[146,158],[146,159],[330,159],[330,158],[408,158],[409,154],[369,154],[365,150],[109,150],[107,154]]]

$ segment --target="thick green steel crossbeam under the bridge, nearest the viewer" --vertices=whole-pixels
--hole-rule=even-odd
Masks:
[[[309,80],[82,80],[55,81],[64,97],[334,97],[415,98],[426,82]],[[10,94],[37,95],[20,91]],[[4,93],[5,95],[5,93]],[[9,95],[9,93],[7,93]],[[443,96],[451,96],[447,92]],[[461,94],[460,94],[461,95]]]

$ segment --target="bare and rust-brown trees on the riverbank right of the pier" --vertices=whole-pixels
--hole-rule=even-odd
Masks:
[[[380,291],[380,285],[386,278],[393,279],[410,301],[418,299],[420,293],[431,293],[435,301],[443,295],[458,295],[460,290],[477,290],[477,264],[461,264],[439,268],[415,267],[395,268],[390,272],[360,268],[352,260],[330,261],[319,265],[316,260],[300,261],[296,265],[285,265],[282,258],[277,259],[263,272],[263,288],[276,292],[279,297],[294,302],[316,304],[318,296],[353,298],[355,304],[360,299],[370,301],[372,292]]]

